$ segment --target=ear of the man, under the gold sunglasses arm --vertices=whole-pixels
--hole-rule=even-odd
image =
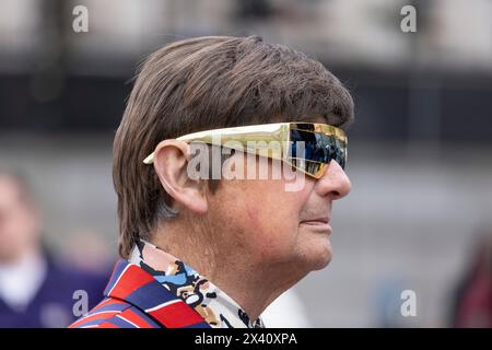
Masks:
[[[178,205],[204,214],[208,210],[206,186],[203,180],[188,176],[189,158],[189,145],[186,142],[164,140],[155,148],[154,168],[162,186]]]

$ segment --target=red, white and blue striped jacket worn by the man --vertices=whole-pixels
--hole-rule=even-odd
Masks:
[[[116,264],[104,296],[70,328],[210,328],[198,312],[127,260]]]

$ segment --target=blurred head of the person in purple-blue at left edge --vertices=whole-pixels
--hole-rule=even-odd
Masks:
[[[24,178],[0,168],[0,261],[14,261],[38,245],[40,221]]]

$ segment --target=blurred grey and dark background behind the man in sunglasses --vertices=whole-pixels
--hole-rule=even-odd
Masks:
[[[138,63],[176,39],[253,34],[324,62],[356,106],[333,259],[267,326],[491,327],[490,0],[1,0],[0,165],[34,188],[46,247],[101,273],[117,258],[112,142]]]

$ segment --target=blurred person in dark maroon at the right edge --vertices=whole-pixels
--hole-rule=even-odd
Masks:
[[[492,328],[492,229],[479,236],[472,252],[471,268],[455,295],[453,326]]]

